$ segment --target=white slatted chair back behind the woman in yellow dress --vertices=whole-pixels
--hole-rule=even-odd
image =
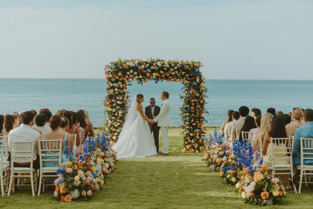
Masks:
[[[292,165],[292,150],[290,149],[291,140],[290,138],[270,138],[271,140],[271,158],[273,159],[273,164],[275,160],[286,159],[287,163]]]

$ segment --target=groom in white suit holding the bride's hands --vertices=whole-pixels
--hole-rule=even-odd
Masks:
[[[168,155],[168,127],[172,125],[173,121],[170,119],[171,105],[168,101],[169,93],[163,91],[161,94],[161,100],[163,100],[162,107],[158,116],[151,120],[151,124],[158,122],[158,126],[161,127],[161,134],[163,138],[163,149],[161,155]]]

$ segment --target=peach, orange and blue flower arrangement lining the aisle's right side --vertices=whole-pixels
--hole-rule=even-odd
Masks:
[[[253,205],[280,204],[285,188],[263,164],[259,153],[253,153],[249,142],[236,140],[232,149],[222,143],[222,137],[214,130],[209,135],[203,161],[213,171],[219,172],[224,183],[235,185],[244,202]]]

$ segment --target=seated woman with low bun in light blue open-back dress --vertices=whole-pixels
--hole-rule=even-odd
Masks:
[[[65,133],[59,132],[59,127],[61,124],[61,116],[54,115],[51,117],[51,119],[49,121],[50,121],[49,126],[50,126],[51,130],[47,133],[41,134],[40,139],[42,139],[42,140],[63,139],[63,141],[62,141],[63,142],[62,157],[61,158],[62,158],[62,163],[67,162],[67,158],[65,156],[64,151],[65,151],[66,146],[68,146],[68,147],[71,146],[69,134],[67,134],[66,132]],[[49,167],[49,165],[47,167]],[[53,167],[55,167],[55,166],[53,166]]]

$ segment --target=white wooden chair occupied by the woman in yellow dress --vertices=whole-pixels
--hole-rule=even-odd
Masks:
[[[292,161],[292,149],[290,138],[270,138],[271,140],[271,159],[272,159],[272,174],[284,175],[289,177],[291,175],[291,180],[294,177],[293,173],[293,161]],[[283,163],[283,164],[282,164]],[[282,173],[276,173],[276,171],[287,171]],[[289,178],[287,178],[287,185],[289,185]],[[297,189],[295,184],[293,184],[295,193]]]

